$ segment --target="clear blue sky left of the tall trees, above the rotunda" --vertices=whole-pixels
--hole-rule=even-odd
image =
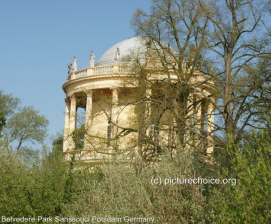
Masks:
[[[134,36],[130,19],[150,0],[1,0],[0,90],[33,105],[49,121],[49,134],[64,125],[67,64],[78,69],[114,44]]]

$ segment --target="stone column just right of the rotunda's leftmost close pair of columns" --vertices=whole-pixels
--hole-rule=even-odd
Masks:
[[[93,91],[90,90],[87,92],[87,102],[86,102],[86,120],[85,120],[85,139],[84,139],[84,149],[89,150],[90,149],[90,128],[91,128],[91,122],[92,122],[92,97],[93,97]]]

